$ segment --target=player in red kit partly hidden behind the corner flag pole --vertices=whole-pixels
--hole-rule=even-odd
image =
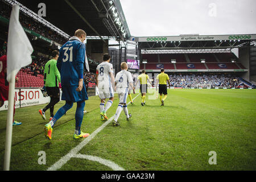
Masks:
[[[0,57],[0,107],[3,106],[5,101],[8,101],[9,96],[9,82],[6,80],[7,77],[7,56],[3,55]],[[18,81],[19,78],[16,77],[15,81]],[[13,96],[14,97],[14,96]],[[13,118],[15,114],[15,99],[14,99],[14,110]],[[21,125],[21,122],[16,122],[13,120],[13,126]]]

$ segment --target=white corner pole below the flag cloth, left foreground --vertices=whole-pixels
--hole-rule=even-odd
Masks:
[[[8,100],[6,140],[5,140],[5,162],[3,164],[3,170],[5,171],[10,170],[11,138],[13,134],[14,88],[15,88],[15,71],[11,72],[11,81],[9,82],[9,100]]]

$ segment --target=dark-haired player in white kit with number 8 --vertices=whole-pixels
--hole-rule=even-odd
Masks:
[[[112,106],[114,101],[114,75],[113,75],[113,65],[109,63],[110,55],[105,53],[103,56],[103,62],[99,64],[96,68],[96,86],[98,88],[98,96],[101,99],[100,113],[101,121],[107,121],[106,111]],[[96,88],[96,90],[97,90]],[[105,106],[105,99],[109,98],[109,101]]]

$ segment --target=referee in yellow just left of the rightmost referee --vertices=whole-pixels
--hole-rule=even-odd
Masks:
[[[141,98],[142,98],[141,105],[144,106],[146,104],[145,98],[146,98],[146,93],[147,93],[147,81],[150,83],[150,85],[152,85],[152,83],[149,80],[148,75],[146,75],[146,71],[144,69],[142,70],[142,74],[138,76],[137,82],[136,82],[134,88],[138,84],[138,81],[141,83],[141,86],[140,86]]]

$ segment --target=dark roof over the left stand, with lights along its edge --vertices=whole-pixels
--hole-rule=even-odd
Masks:
[[[42,0],[18,0],[23,6],[38,13]],[[46,16],[43,18],[72,36],[78,28],[88,36],[114,36],[125,41],[130,31],[119,0],[44,0]]]

